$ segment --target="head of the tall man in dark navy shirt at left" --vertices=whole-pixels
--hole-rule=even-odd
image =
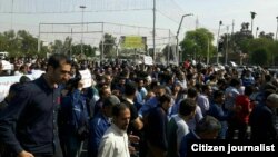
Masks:
[[[54,53],[48,59],[47,76],[51,84],[62,84],[70,79],[71,61],[67,56]]]

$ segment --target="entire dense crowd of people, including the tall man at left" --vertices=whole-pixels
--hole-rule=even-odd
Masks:
[[[0,76],[22,76],[0,104],[3,157],[80,157],[85,145],[88,157],[185,157],[192,139],[277,139],[278,81],[266,69],[97,65],[58,53],[13,63],[9,72],[0,65]],[[44,73],[30,80],[32,70]]]

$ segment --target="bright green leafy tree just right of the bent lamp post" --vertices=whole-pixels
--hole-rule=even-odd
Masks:
[[[214,40],[214,33],[206,28],[188,31],[183,40],[180,42],[182,60],[185,60],[187,56],[195,56],[195,53],[200,59],[206,58],[208,53],[208,47],[209,56],[211,57],[212,53],[216,52],[216,49],[212,45]]]

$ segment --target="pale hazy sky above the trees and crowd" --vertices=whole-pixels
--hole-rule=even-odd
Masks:
[[[80,6],[86,6],[83,12]],[[139,35],[147,36],[150,40],[153,24],[152,7],[153,0],[0,0],[0,32],[26,29],[38,37],[39,23],[82,22],[83,14],[83,22],[105,22],[105,31],[115,36]],[[183,18],[180,39],[186,31],[195,30],[197,27],[205,27],[217,35],[220,20],[224,23],[220,35],[231,32],[232,20],[234,32],[239,31],[242,22],[251,23],[251,11],[257,13],[254,19],[254,35],[257,27],[259,32],[276,33],[278,0],[156,0],[157,43],[162,46],[166,42],[175,42],[182,14],[193,13]],[[83,29],[95,32],[83,35],[85,42],[98,45],[101,24],[91,23]],[[41,33],[40,37],[44,41],[51,41],[72,36],[76,42],[79,42],[81,35],[72,35],[71,30],[80,32],[81,24],[41,26],[43,32],[68,33]]]

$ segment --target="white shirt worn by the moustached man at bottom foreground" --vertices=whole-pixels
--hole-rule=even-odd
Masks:
[[[98,157],[130,157],[127,131],[112,124],[102,136]]]

